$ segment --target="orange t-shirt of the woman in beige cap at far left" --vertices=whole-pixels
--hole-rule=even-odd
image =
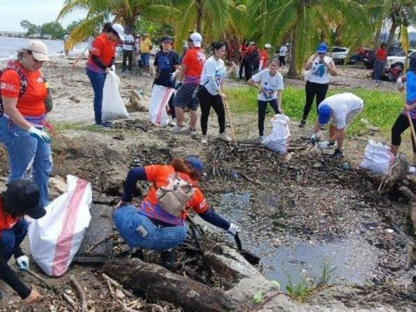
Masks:
[[[7,69],[0,77],[1,96],[8,98],[19,98],[17,100],[17,110],[23,116],[42,116],[46,109],[44,101],[48,95],[44,80],[40,71],[28,71],[24,69],[19,62],[15,62],[17,67],[26,76],[28,87],[26,92],[19,97],[20,93],[20,77],[19,74],[12,69]]]

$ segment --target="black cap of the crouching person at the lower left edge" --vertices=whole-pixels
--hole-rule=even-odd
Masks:
[[[10,210],[21,211],[31,218],[39,219],[46,214],[40,205],[40,192],[37,184],[29,179],[19,179],[8,183],[4,205]]]

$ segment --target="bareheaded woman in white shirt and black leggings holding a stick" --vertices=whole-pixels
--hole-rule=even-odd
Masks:
[[[202,144],[207,144],[207,129],[208,118],[211,107],[214,108],[218,116],[218,125],[220,128],[219,138],[230,142],[225,134],[225,110],[223,100],[226,96],[221,89],[223,78],[227,76],[227,69],[222,58],[225,55],[225,43],[213,42],[211,48],[214,55],[209,57],[202,68],[200,90],[198,91],[198,101],[201,107],[201,129],[202,129]],[[235,66],[235,65],[234,65]]]

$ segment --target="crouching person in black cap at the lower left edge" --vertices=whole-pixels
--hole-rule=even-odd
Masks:
[[[38,219],[45,214],[40,202],[39,187],[31,180],[10,182],[6,192],[0,194],[0,279],[13,288],[26,304],[39,301],[40,294],[20,281],[8,266],[8,260],[14,255],[21,270],[29,267],[29,259],[20,248],[20,243],[28,232],[28,223],[23,216]]]

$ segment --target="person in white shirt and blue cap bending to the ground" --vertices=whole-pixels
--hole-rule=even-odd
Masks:
[[[324,99],[318,107],[318,119],[313,128],[311,136],[312,144],[320,140],[318,132],[322,125],[329,122],[329,140],[318,144],[318,148],[331,148],[336,150],[332,155],[333,159],[340,159],[344,156],[343,144],[345,138],[345,128],[352,122],[354,117],[359,114],[364,107],[363,99],[352,93],[341,93],[329,96]]]

